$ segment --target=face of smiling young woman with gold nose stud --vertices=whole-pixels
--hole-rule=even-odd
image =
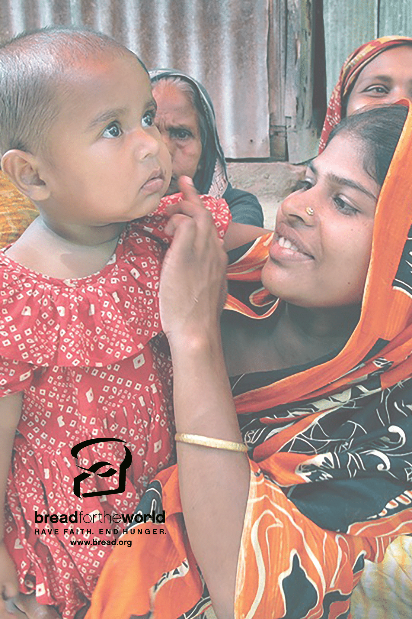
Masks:
[[[262,276],[275,296],[311,308],[360,303],[379,194],[363,169],[362,150],[338,134],[280,206]]]

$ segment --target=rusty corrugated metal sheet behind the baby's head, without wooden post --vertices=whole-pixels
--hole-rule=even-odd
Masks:
[[[214,102],[225,155],[269,156],[269,0],[0,0],[0,37],[85,24],[149,68],[191,74]]]

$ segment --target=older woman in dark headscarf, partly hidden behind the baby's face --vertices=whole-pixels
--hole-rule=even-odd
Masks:
[[[257,197],[229,183],[213,105],[203,85],[173,69],[156,69],[150,77],[158,104],[155,122],[172,155],[167,193],[179,191],[179,176],[190,176],[200,194],[225,199],[233,221],[263,227]]]

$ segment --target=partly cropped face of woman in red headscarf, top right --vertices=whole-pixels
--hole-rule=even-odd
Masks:
[[[347,105],[347,116],[366,105],[412,100],[412,45],[401,45],[376,56],[360,72]]]

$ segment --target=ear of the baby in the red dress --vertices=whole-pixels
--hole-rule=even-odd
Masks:
[[[38,173],[38,160],[25,150],[7,150],[1,158],[1,169],[12,183],[33,202],[48,199],[48,186]]]

